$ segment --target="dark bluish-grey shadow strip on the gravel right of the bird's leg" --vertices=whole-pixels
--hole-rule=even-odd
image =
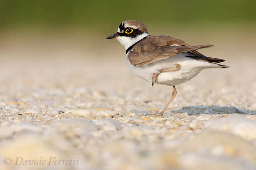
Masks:
[[[242,108],[235,108],[235,107],[220,107],[220,106],[188,106],[182,107],[177,110],[171,111],[172,113],[184,113],[187,112],[189,115],[192,114],[250,114],[255,115],[256,111],[245,110]]]

